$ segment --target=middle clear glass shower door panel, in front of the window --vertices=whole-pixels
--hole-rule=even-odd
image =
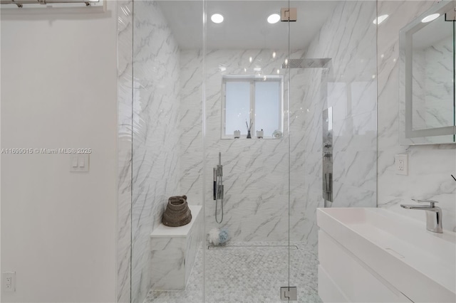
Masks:
[[[282,6],[206,1],[205,302],[274,302],[288,286],[289,49]]]

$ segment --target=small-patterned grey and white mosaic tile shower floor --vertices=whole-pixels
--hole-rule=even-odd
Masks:
[[[205,302],[283,302],[279,292],[281,286],[288,285],[290,253],[290,286],[298,287],[298,302],[321,303],[317,294],[316,250],[304,243],[291,243],[288,251],[286,246],[277,244],[231,243],[206,248]],[[202,303],[202,255],[199,250],[187,289],[151,290],[144,303]]]

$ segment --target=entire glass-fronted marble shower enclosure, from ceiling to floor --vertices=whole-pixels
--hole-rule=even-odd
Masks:
[[[119,252],[130,259],[119,300],[319,302],[323,125],[331,207],[376,206],[375,1],[120,1],[118,14]],[[194,225],[151,238],[177,195],[201,206]]]

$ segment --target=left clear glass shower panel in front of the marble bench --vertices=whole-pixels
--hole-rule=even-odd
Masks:
[[[131,302],[202,302],[203,1],[133,1]],[[128,27],[130,28],[130,27]],[[187,60],[187,58],[189,60]],[[198,73],[199,71],[199,73]],[[199,122],[199,123],[198,123]],[[186,196],[187,225],[162,223]]]

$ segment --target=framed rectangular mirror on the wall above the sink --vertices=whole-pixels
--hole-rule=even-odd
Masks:
[[[435,4],[400,31],[400,144],[456,142],[455,2]]]

